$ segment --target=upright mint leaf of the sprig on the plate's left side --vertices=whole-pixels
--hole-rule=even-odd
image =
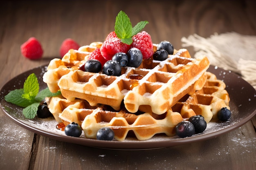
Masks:
[[[32,73],[27,77],[23,89],[25,95],[22,95],[22,97],[28,100],[34,100],[34,97],[36,97],[39,92],[39,83],[36,74]]]

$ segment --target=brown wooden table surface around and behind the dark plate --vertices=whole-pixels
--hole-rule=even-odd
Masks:
[[[8,80],[59,56],[66,38],[80,45],[103,41],[125,11],[133,26],[154,42],[196,33],[235,31],[256,35],[256,1],[4,1],[0,7],[0,87]],[[20,45],[36,37],[43,58],[32,61]],[[188,48],[193,55],[193,48]],[[256,117],[240,128],[203,142],[156,150],[107,150],[57,141],[21,128],[0,111],[0,169],[256,169]]]

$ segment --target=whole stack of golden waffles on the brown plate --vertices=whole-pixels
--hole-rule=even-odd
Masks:
[[[121,76],[83,71],[101,44],[69,50],[53,59],[43,76],[51,92],[62,94],[46,98],[56,121],[78,123],[85,137],[96,139],[102,127],[110,127],[118,141],[128,132],[139,140],[157,133],[172,136],[182,120],[202,115],[209,122],[222,107],[229,108],[225,83],[207,72],[206,56],[194,59],[180,49],[164,61],[147,59],[138,68],[124,67]]]

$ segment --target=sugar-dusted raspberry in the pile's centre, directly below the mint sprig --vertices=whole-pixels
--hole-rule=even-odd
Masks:
[[[130,45],[122,43],[121,39],[117,37],[107,39],[100,48],[101,54],[106,60],[111,60],[117,52],[127,53],[129,49]]]

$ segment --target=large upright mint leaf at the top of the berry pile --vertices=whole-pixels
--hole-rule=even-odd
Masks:
[[[120,11],[117,14],[115,33],[120,39],[132,37],[132,23],[124,11]]]

